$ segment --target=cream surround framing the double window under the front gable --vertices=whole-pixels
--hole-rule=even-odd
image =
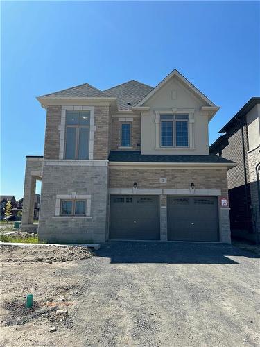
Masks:
[[[158,150],[165,150],[165,151],[182,151],[182,150],[189,150],[189,149],[195,149],[194,146],[194,109],[190,108],[172,108],[172,109],[160,109],[160,110],[154,110],[155,112],[155,149]],[[161,115],[189,115],[188,121],[188,142],[189,146],[187,147],[180,147],[180,146],[171,146],[166,147],[162,146],[161,141]],[[175,129],[173,129],[173,144],[175,144]]]

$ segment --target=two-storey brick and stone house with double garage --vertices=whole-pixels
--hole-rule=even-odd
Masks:
[[[230,242],[227,170],[209,154],[218,107],[177,70],[156,87],[85,83],[37,98],[46,109],[44,156],[27,156],[22,228],[39,237]]]

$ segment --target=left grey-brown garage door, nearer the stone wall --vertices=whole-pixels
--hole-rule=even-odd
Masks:
[[[159,240],[159,196],[111,195],[110,239]]]

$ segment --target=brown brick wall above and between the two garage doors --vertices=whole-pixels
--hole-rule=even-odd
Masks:
[[[159,178],[167,178],[160,183]],[[227,196],[227,169],[109,169],[109,188],[162,189],[160,195],[160,239],[167,237],[167,196],[163,189],[189,189],[191,183],[196,189],[219,189],[221,196]],[[148,194],[148,193],[147,193]],[[153,194],[153,193],[151,193]],[[189,193],[191,194],[191,193]],[[229,209],[218,205],[220,242],[230,242]]]

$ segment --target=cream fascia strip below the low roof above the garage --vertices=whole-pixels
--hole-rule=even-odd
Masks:
[[[174,169],[183,169],[189,167],[189,169],[227,169],[236,166],[236,163],[232,162],[108,162],[110,167],[146,167],[162,169],[162,167],[172,167]]]

